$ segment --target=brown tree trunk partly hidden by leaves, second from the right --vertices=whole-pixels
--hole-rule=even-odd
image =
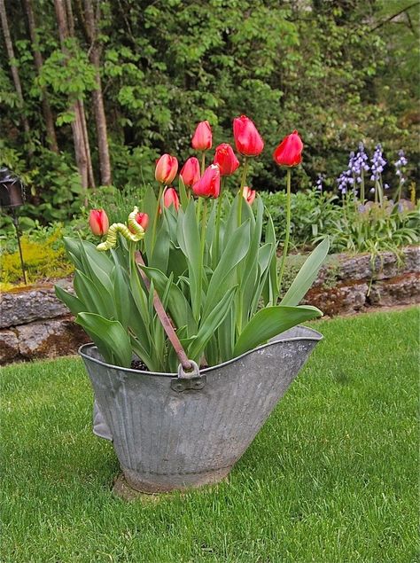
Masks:
[[[58,22],[58,35],[63,52],[68,55],[66,51],[66,39],[69,35],[69,27],[67,21],[66,5],[63,0],[54,0]],[[72,18],[72,14],[71,14]],[[73,22],[71,21],[72,27]],[[75,100],[72,105],[74,112],[74,121],[72,122],[72,130],[74,137],[74,152],[76,157],[76,164],[82,180],[82,187],[87,189],[89,186],[94,187],[95,181],[92,172],[92,162],[90,159],[89,140],[86,128],[86,119],[84,115],[84,107],[82,100]]]

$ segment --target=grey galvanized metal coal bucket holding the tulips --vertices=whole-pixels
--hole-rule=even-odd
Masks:
[[[221,481],[323,336],[296,326],[191,376],[105,364],[79,350],[95,392],[94,432],[113,441],[128,484],[156,493]]]

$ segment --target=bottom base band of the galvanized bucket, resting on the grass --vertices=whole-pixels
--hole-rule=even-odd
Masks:
[[[153,495],[156,493],[169,493],[173,490],[198,489],[206,485],[215,485],[226,479],[232,465],[203,473],[183,473],[174,475],[137,473],[132,469],[122,467],[125,481],[131,489],[140,493]]]

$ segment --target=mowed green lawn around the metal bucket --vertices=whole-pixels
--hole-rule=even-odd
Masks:
[[[417,561],[418,311],[324,334],[229,482],[127,503],[75,358],[4,368],[1,561]]]

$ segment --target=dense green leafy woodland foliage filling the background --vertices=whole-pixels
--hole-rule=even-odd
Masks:
[[[100,76],[116,186],[151,180],[161,152],[185,160],[191,132],[203,119],[214,128],[215,144],[231,141],[231,120],[240,113],[252,117],[266,142],[253,163],[259,190],[282,188],[271,153],[295,128],[306,145],[295,188],[313,185],[323,173],[326,187],[335,189],[349,150],[361,140],[369,150],[381,142],[390,160],[404,148],[408,180],[418,177],[418,2],[103,0],[99,6]],[[34,3],[43,55],[37,75],[26,12],[18,2],[7,3],[23,107],[0,50],[0,164],[23,177],[32,192],[27,213],[45,222],[73,215],[82,201],[69,99],[84,102],[100,183],[92,44],[82,0],[73,0],[73,9],[74,37],[65,58],[53,3]],[[46,142],[43,91],[54,114],[58,153]]]

